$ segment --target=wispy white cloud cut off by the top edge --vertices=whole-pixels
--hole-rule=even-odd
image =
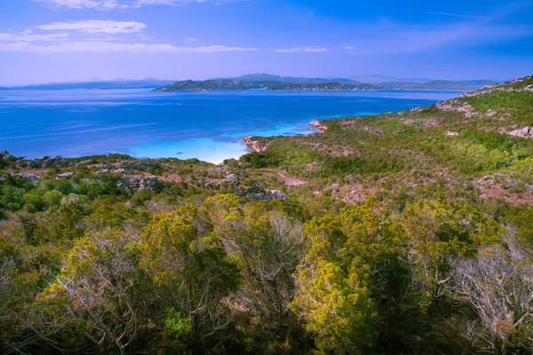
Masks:
[[[192,3],[224,4],[238,0],[34,0],[57,9],[80,10],[92,9],[99,11],[124,10],[147,5],[185,5]]]

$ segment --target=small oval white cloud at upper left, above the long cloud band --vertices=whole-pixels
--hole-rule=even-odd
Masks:
[[[111,20],[84,20],[70,22],[53,22],[49,25],[37,26],[47,31],[67,30],[78,31],[87,34],[126,34],[140,32],[147,25],[134,21],[111,21]]]

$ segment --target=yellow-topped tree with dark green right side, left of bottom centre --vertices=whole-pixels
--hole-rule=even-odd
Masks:
[[[206,210],[190,204],[158,214],[141,241],[141,267],[152,275],[163,309],[188,319],[188,340],[204,350],[225,342],[225,301],[238,287],[238,268],[213,235]]]

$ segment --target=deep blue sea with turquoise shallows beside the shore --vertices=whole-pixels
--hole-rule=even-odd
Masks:
[[[0,150],[28,158],[123,153],[221,162],[246,153],[247,134],[309,133],[316,118],[400,111],[457,94],[0,91]]]

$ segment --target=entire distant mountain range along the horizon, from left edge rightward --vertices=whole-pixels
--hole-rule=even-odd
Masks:
[[[401,79],[382,75],[362,75],[350,78],[306,78],[270,74],[248,74],[235,78],[204,81],[173,81],[147,78],[142,80],[93,79],[87,82],[44,83],[0,90],[109,90],[155,89],[156,91],[378,91],[378,90],[447,90],[473,91],[497,83],[494,80],[446,81],[431,79]]]

